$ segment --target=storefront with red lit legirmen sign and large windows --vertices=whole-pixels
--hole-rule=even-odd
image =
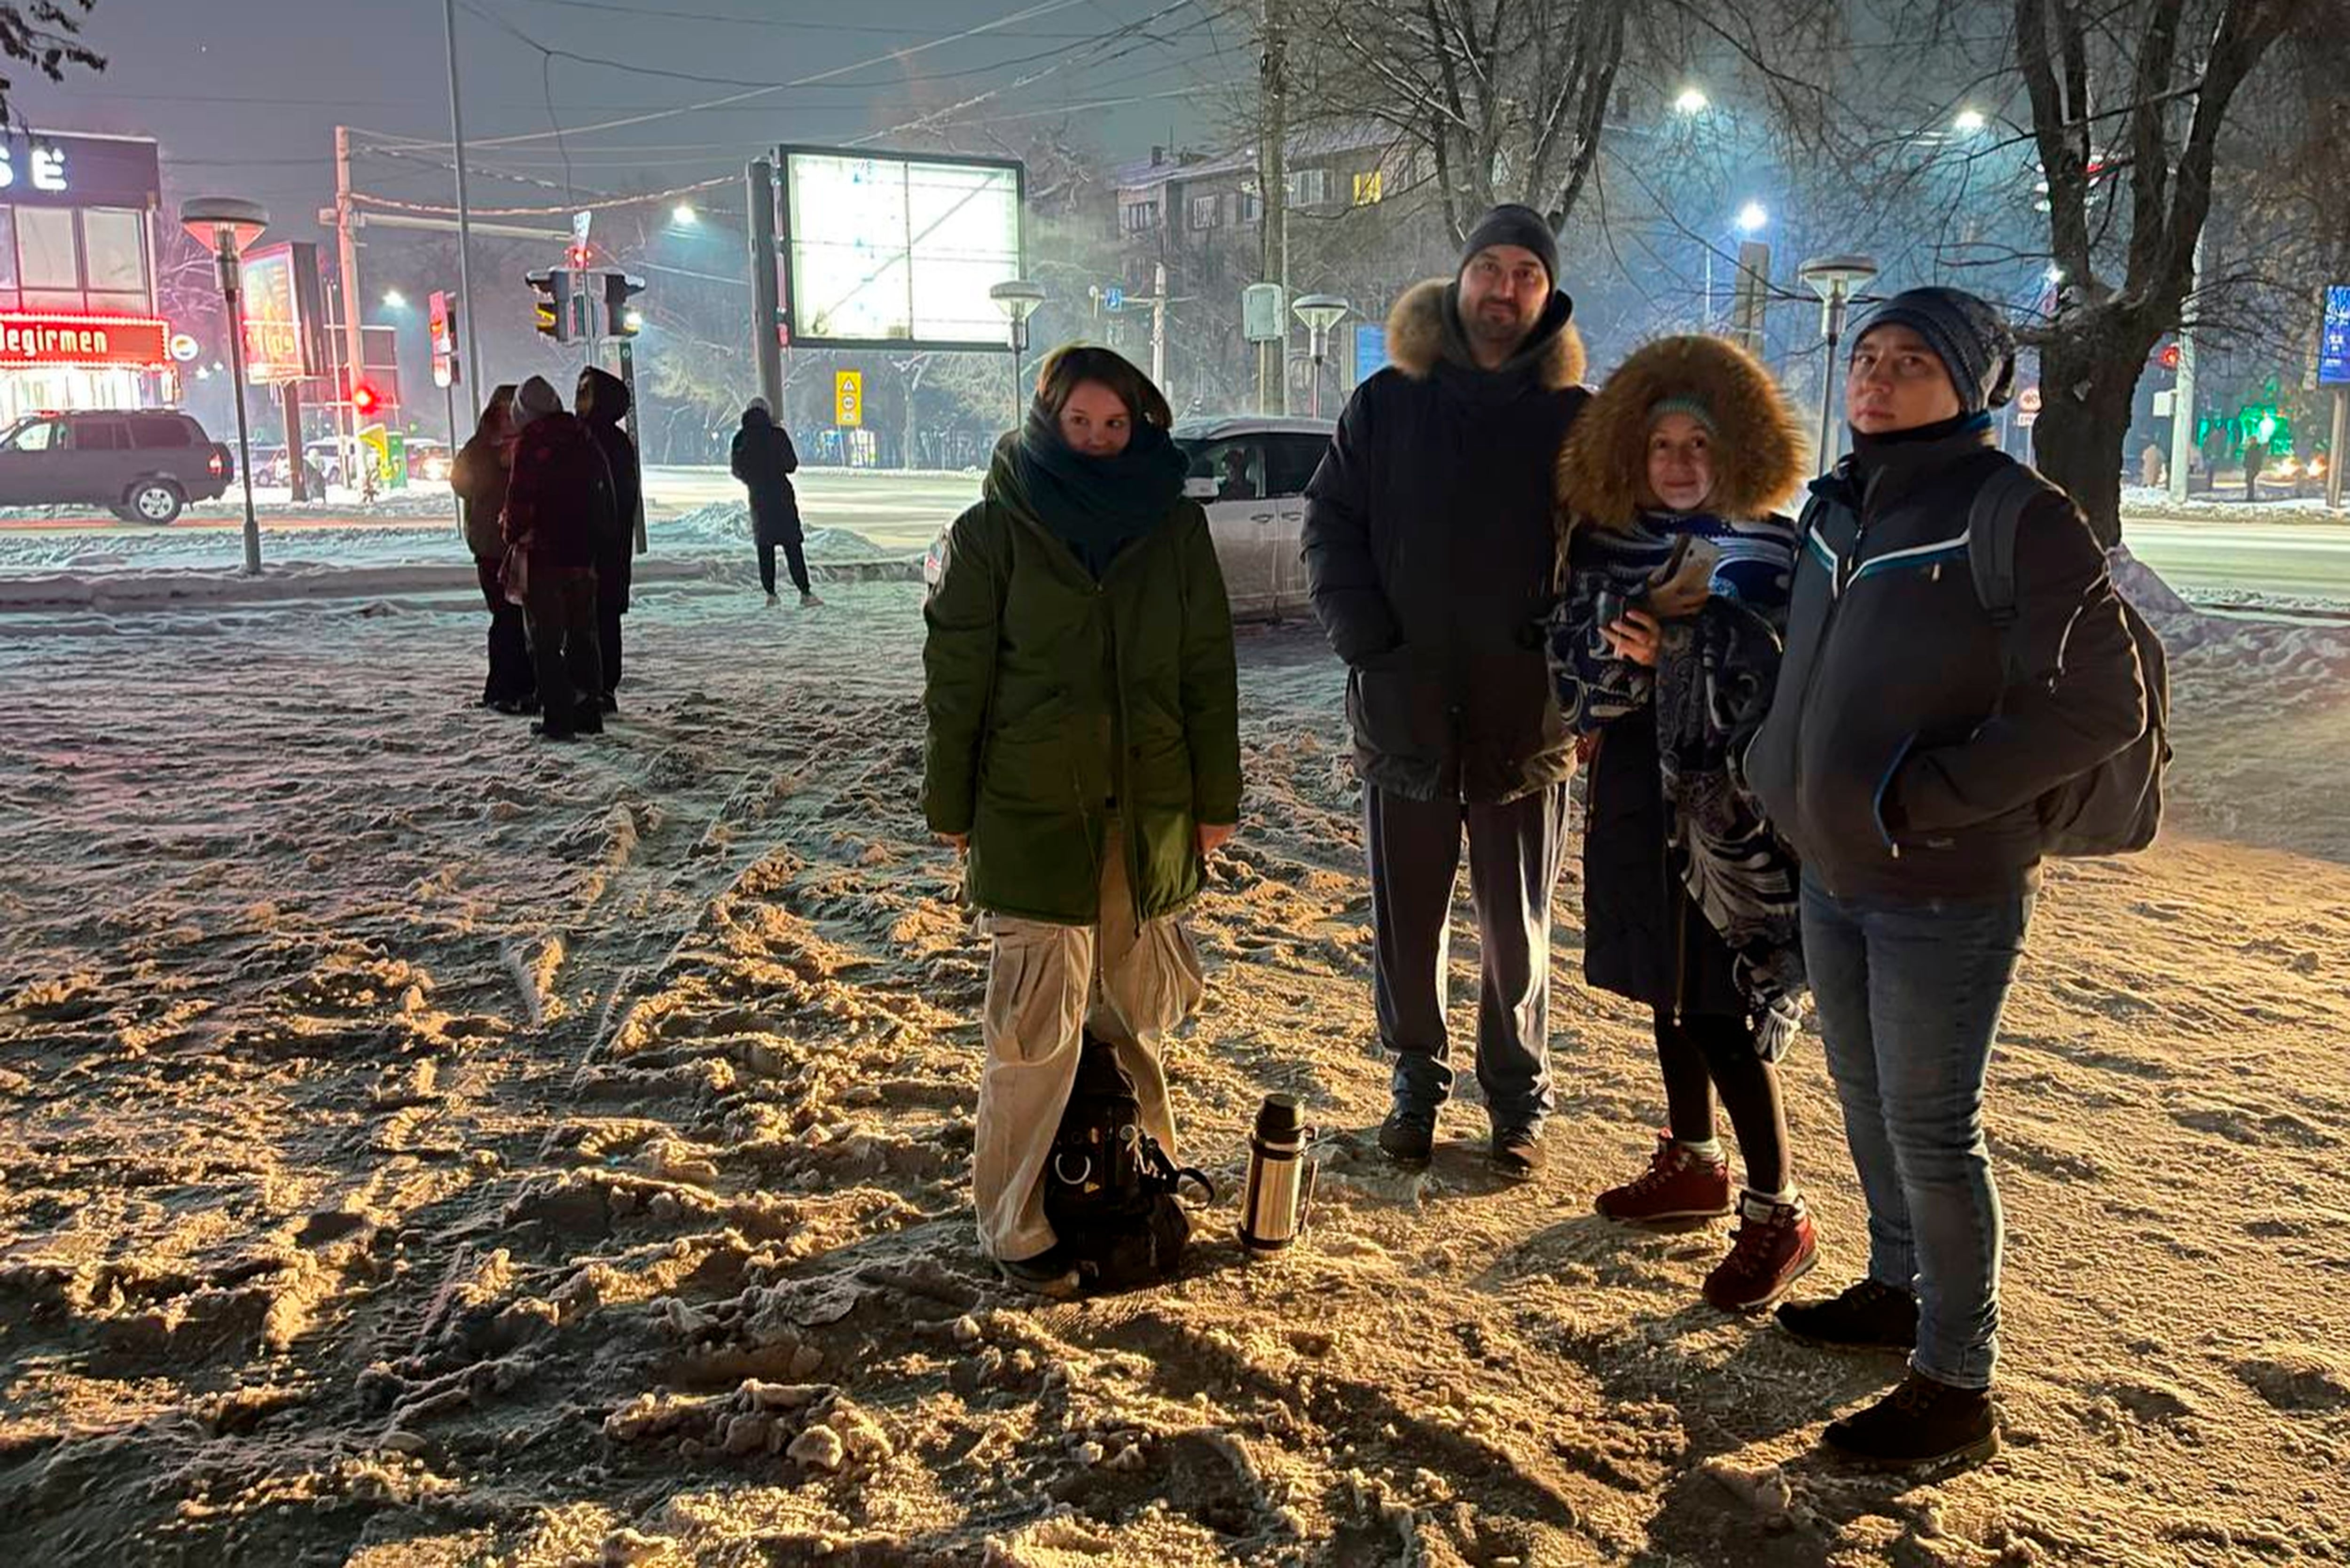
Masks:
[[[155,143],[0,136],[0,425],[40,409],[172,402],[155,308]]]

